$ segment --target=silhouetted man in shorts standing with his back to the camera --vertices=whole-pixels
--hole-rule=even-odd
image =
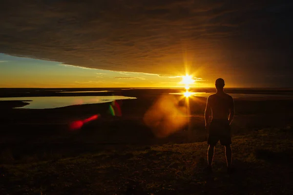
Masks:
[[[234,117],[233,98],[224,93],[225,81],[223,78],[216,79],[217,93],[209,96],[205,111],[206,129],[208,137],[208,172],[211,172],[211,163],[214,154],[214,147],[220,140],[221,145],[226,149],[226,160],[228,173],[231,173],[232,150],[230,147],[231,130],[230,124]],[[212,120],[209,124],[209,113],[212,111]]]

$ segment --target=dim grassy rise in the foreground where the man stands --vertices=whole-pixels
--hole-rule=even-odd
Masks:
[[[27,156],[30,163],[9,163],[7,152],[1,155],[6,163],[0,165],[0,194],[289,195],[293,194],[292,139],[291,127],[233,137],[233,175],[226,173],[220,145],[213,174],[204,173],[206,142],[113,146],[47,161]]]

